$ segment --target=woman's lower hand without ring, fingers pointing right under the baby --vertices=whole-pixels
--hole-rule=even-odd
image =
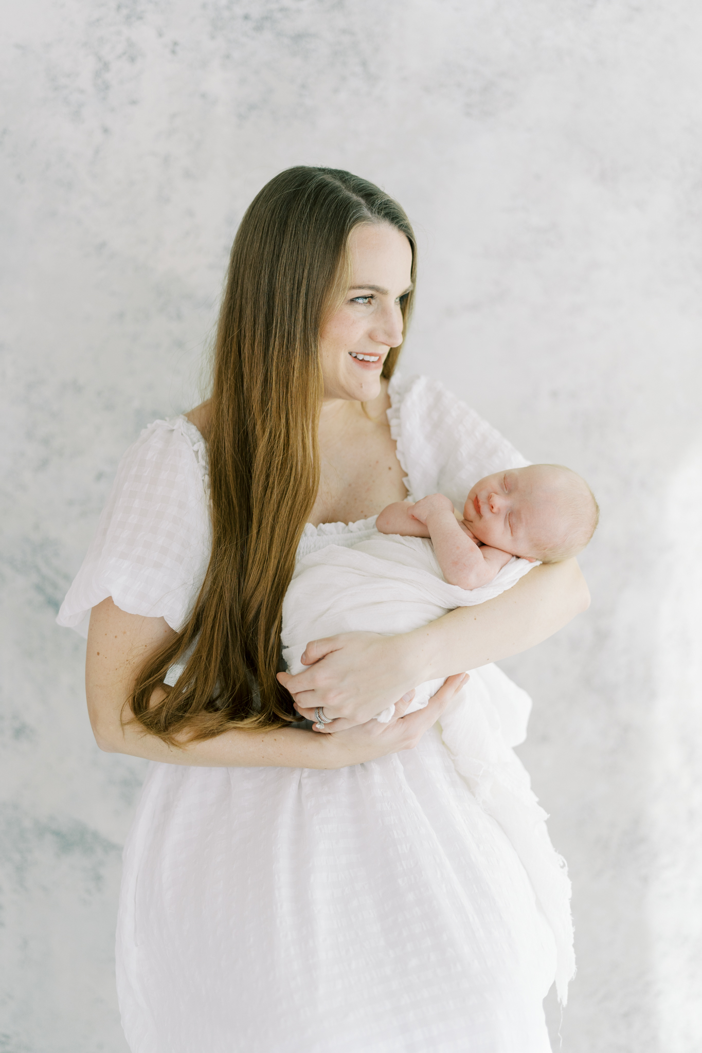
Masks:
[[[381,724],[377,720],[368,720],[363,724],[354,724],[341,730],[347,722],[340,718],[325,728],[326,749],[332,751],[334,768],[347,768],[350,764],[361,764],[367,760],[376,760],[388,753],[399,753],[402,750],[414,750],[420,738],[436,721],[450,702],[457,691],[468,679],[467,673],[457,673],[449,676],[437,691],[423,710],[417,710],[408,716],[402,716],[412,699],[397,703],[395,717],[389,723]],[[413,693],[414,694],[414,693]]]

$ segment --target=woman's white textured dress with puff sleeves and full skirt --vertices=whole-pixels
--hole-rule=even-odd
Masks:
[[[524,463],[435,381],[394,378],[390,397],[416,498],[462,503],[481,476]],[[59,623],[85,633],[112,595],[180,629],[206,570],[207,505],[199,432],[152,424]],[[370,531],[308,524],[299,554]],[[555,975],[526,871],[437,729],[339,771],[149,766],[117,933],[134,1053],[546,1053]]]

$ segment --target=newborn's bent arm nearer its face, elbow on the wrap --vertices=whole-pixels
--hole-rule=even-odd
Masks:
[[[410,516],[426,525],[448,584],[461,589],[486,585],[512,559],[508,552],[477,545],[458,522],[454,505],[443,494],[424,497],[409,509]]]

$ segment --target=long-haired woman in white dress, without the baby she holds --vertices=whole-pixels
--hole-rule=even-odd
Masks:
[[[416,267],[405,214],[373,184],[273,179],[232,251],[213,396],[127,452],[59,615],[89,616],[98,744],[157,762],[118,921],[133,1051],[549,1048],[553,934],[432,726],[459,671],[587,605],[577,564],[415,633],[310,641],[306,671],[279,669],[296,553],[358,539],[450,469],[443,418],[467,409],[392,380]],[[425,436],[404,464],[401,418]],[[477,464],[512,450],[472,429]],[[389,726],[369,720],[399,699]]]

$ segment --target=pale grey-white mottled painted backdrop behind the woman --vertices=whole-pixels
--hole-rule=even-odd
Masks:
[[[589,613],[505,663],[574,881],[562,1049],[699,1051],[702,7],[8,0],[2,18],[0,1050],[125,1051],[113,938],[144,768],[97,750],[84,643],[54,617],[120,455],[197,400],[243,210],[312,163],[416,223],[404,370],[600,499]]]

